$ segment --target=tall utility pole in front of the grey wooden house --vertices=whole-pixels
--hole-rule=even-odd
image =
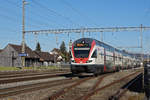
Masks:
[[[22,0],[22,54],[25,54],[25,0]],[[25,56],[21,57],[22,68],[25,67]]]

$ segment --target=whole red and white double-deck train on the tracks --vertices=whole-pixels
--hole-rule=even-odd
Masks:
[[[73,74],[94,75],[140,66],[139,59],[92,38],[81,38],[72,44],[71,71]]]

